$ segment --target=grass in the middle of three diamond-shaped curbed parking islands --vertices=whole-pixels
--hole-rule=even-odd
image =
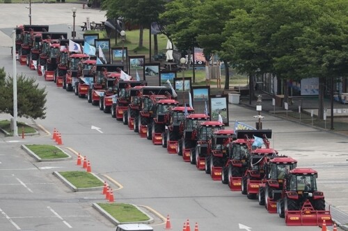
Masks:
[[[86,171],[61,171],[59,173],[78,189],[102,187],[104,185],[104,182]]]

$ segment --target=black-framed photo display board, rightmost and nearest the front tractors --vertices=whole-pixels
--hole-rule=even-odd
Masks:
[[[221,114],[225,126],[228,126],[228,99],[226,94],[210,96],[210,120],[218,121],[219,114]]]

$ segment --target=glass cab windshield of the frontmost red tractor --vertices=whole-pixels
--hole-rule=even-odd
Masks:
[[[292,175],[290,178],[292,191],[317,191],[315,175]]]

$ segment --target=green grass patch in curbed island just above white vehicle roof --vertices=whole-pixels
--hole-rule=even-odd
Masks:
[[[139,222],[149,219],[134,205],[125,203],[97,203],[97,205],[120,222]]]

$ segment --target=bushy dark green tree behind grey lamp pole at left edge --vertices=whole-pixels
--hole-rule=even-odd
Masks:
[[[45,119],[47,92],[39,88],[35,78],[17,76],[17,115],[18,117]],[[4,68],[0,69],[0,112],[13,116],[13,77],[6,78]]]

